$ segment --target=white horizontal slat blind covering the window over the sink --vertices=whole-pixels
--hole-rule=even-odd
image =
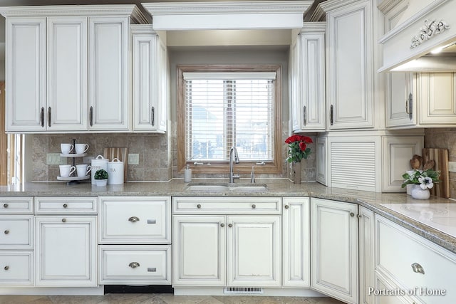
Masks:
[[[184,73],[186,160],[274,160],[276,73]]]

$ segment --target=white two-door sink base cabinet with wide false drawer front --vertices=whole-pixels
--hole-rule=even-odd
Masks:
[[[281,286],[281,198],[174,199],[173,286]]]

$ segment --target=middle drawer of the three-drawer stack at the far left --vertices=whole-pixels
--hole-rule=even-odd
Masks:
[[[0,248],[32,249],[33,216],[0,216]]]

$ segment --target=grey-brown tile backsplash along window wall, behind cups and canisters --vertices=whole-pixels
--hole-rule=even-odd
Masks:
[[[105,147],[127,147],[128,153],[139,154],[139,164],[128,164],[129,182],[165,182],[172,178],[182,178],[183,173],[177,172],[177,134],[175,124],[172,124],[170,132],[165,135],[152,133],[93,133],[93,134],[53,134],[53,135],[27,135],[32,137],[31,153],[26,157],[31,157],[32,181],[56,181],[59,175],[57,164],[46,164],[46,154],[60,153],[61,143],[88,144],[86,152],[88,156],[96,157],[103,155]],[[286,123],[282,126],[282,142],[288,137],[288,127]],[[315,137],[311,136],[314,140]],[[316,179],[316,155],[314,154],[314,144],[310,145],[312,154],[302,165],[302,179],[304,181],[315,181]],[[286,158],[286,144],[282,146],[282,158]],[[66,159],[68,164],[73,163],[72,158]],[[76,164],[82,164],[81,157],[76,158]],[[90,162],[89,162],[90,164]],[[257,174],[257,177],[267,178],[287,178],[291,177],[289,164],[283,160],[281,174]],[[228,177],[228,174],[198,174],[194,178],[205,177]],[[242,176],[244,177],[244,176]],[[247,175],[245,176],[246,178]]]

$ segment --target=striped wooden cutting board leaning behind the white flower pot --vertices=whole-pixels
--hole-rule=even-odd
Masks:
[[[430,194],[440,197],[445,197],[445,199],[450,197],[450,179],[448,173],[448,150],[447,149],[437,149],[437,148],[424,148],[423,149],[423,164],[427,160],[433,159],[435,161],[436,171],[440,171],[440,182],[434,184],[434,187],[430,189]]]

